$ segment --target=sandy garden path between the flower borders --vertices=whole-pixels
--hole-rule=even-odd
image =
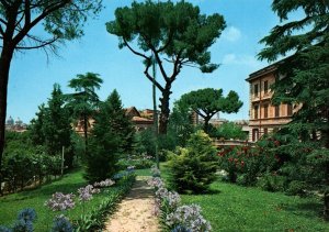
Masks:
[[[117,211],[105,223],[107,232],[158,232],[154,216],[155,197],[147,185],[149,177],[137,176],[132,191],[118,205]]]

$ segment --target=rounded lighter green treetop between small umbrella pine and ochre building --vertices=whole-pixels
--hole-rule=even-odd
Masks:
[[[247,134],[242,131],[242,126],[237,125],[234,122],[225,122],[219,125],[214,134],[216,137],[223,137],[225,140],[247,140]]]

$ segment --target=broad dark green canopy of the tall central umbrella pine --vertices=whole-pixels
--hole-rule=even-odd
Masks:
[[[109,33],[120,37],[120,47],[127,42],[138,41],[144,51],[157,51],[171,57],[179,54],[179,60],[188,59],[200,65],[203,71],[217,66],[209,64],[207,48],[219,37],[225,27],[222,15],[206,16],[198,7],[180,1],[133,2],[131,8],[115,10],[115,21],[106,23]],[[182,52],[183,51],[183,52]]]

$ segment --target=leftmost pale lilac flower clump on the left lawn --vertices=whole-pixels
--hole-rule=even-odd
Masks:
[[[45,202],[53,211],[63,211],[67,209],[75,208],[75,195],[68,194],[64,195],[63,192],[55,192],[49,200]]]

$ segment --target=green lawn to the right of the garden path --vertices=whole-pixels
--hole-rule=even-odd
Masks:
[[[168,176],[166,164],[161,176]],[[316,198],[285,196],[258,188],[215,181],[208,195],[181,195],[182,203],[197,203],[214,232],[219,231],[329,231]]]

